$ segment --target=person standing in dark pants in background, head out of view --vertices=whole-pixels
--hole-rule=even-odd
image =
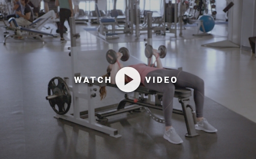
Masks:
[[[66,40],[63,37],[64,22],[67,19],[69,23],[69,17],[73,17],[72,0],[56,0],[55,5],[60,6],[60,15],[59,15],[60,16],[60,34],[61,34],[61,42],[63,43],[63,42],[66,42]]]

